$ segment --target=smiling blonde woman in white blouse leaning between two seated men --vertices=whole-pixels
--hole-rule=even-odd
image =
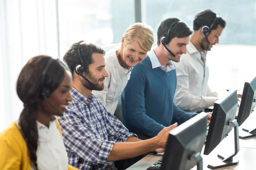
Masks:
[[[125,31],[119,44],[103,46],[109,77],[104,80],[102,91],[93,91],[108,112],[114,114],[132,68],[141,62],[154,43],[153,30],[145,23],[135,23]]]

